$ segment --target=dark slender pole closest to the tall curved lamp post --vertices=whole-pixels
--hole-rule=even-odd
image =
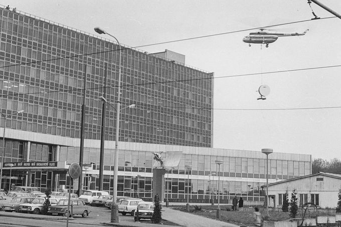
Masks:
[[[103,97],[106,96],[107,63],[104,63],[104,87]],[[103,167],[104,167],[104,141],[105,141],[105,113],[106,102],[102,102],[102,123],[101,123],[101,147],[99,152],[99,190],[103,189]]]

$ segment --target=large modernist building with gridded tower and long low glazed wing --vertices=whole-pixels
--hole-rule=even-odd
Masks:
[[[79,162],[85,100],[84,188],[97,189],[105,88],[103,190],[112,193],[113,106],[121,86],[118,195],[151,198],[152,152],[182,151],[179,165],[166,174],[170,201],[187,198],[188,188],[191,200],[217,196],[218,175],[221,199],[264,200],[265,155],[212,148],[213,73],[186,66],[185,56],[168,50],[150,54],[118,46],[19,10],[3,7],[0,18],[2,188],[11,181],[78,189],[66,170]],[[131,104],[136,108],[127,108]],[[217,159],[224,161],[220,173]],[[311,173],[310,155],[273,153],[269,159],[270,182]],[[185,165],[192,170],[185,172]]]

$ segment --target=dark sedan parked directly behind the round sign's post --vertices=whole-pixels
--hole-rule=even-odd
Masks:
[[[71,216],[71,211],[68,211],[68,203],[68,199],[61,199],[56,206],[49,207],[47,213],[50,215]],[[84,201],[81,199],[70,200],[70,209],[71,206],[73,215],[81,214],[82,217],[87,217],[91,212],[90,206],[85,205]]]

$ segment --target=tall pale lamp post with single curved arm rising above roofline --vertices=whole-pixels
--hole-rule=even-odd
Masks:
[[[112,207],[111,207],[111,219],[110,222],[119,222],[118,219],[118,206],[116,205],[117,198],[117,176],[118,176],[118,133],[119,133],[119,114],[120,114],[120,94],[121,94],[121,45],[119,44],[116,37],[106,33],[99,27],[94,28],[98,34],[107,34],[114,38],[118,44],[118,90],[117,90],[117,103],[116,103],[116,133],[115,133],[115,155],[114,155],[114,189],[112,196]],[[104,98],[103,98],[104,99]],[[105,100],[105,99],[104,99]]]

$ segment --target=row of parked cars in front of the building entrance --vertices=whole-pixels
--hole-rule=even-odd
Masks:
[[[27,191],[10,191],[8,194],[0,192],[0,209],[5,211],[29,212],[29,213],[47,213],[50,215],[71,216],[80,214],[86,217],[91,212],[89,205],[106,206],[111,208],[112,195],[107,191],[84,190],[83,194],[78,197],[77,194],[70,193],[70,206],[68,210],[67,192],[52,191],[50,196],[37,190]],[[46,209],[44,205],[46,199],[49,200],[49,207]],[[118,204],[118,212],[122,215],[130,214],[135,220],[151,219],[153,215],[153,202],[146,202],[140,198],[132,198],[127,196],[117,196],[116,204]],[[71,214],[72,212],[72,214]]]

